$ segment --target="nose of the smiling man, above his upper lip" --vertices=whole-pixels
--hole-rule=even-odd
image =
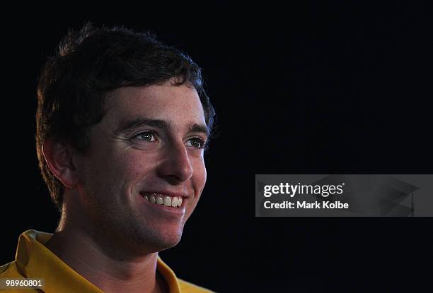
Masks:
[[[183,143],[173,144],[164,152],[163,162],[158,166],[158,175],[176,185],[192,177],[192,165]]]

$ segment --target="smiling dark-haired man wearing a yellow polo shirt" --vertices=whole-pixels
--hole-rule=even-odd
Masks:
[[[21,234],[0,278],[44,279],[42,292],[209,292],[158,257],[206,182],[214,109],[200,68],[147,33],[87,24],[47,61],[37,98],[37,155],[61,219],[54,234]]]

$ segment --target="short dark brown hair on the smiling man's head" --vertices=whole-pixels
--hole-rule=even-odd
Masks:
[[[197,90],[211,132],[214,108],[204,90],[201,69],[187,54],[161,43],[150,32],[122,26],[96,28],[86,23],[63,38],[40,73],[35,136],[42,178],[59,210],[64,188],[45,162],[44,141],[65,141],[86,153],[88,127],[103,119],[108,92],[168,80]]]

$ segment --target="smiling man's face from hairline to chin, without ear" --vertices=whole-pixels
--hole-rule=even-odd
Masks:
[[[197,91],[168,83],[119,88],[106,105],[79,166],[83,226],[140,252],[175,246],[206,182]]]

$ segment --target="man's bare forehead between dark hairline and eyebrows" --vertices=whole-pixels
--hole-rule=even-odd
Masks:
[[[205,124],[200,97],[195,88],[186,85],[148,85],[113,90],[105,101],[105,118],[110,124],[146,116],[171,123]]]

